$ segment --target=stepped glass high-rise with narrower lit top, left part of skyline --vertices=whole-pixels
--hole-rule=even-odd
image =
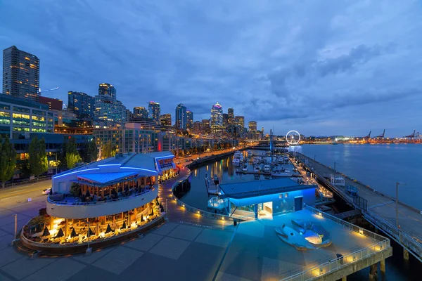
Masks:
[[[94,117],[96,121],[114,125],[126,121],[126,107],[116,99],[116,89],[110,84],[100,84],[98,95],[94,97]]]

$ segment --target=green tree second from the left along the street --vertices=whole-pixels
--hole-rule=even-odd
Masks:
[[[37,136],[32,138],[30,143],[30,159],[28,161],[29,168],[31,174],[37,177],[39,175],[45,173],[47,169],[49,169],[49,163],[47,161],[47,154],[46,154],[46,143],[44,138],[39,140]]]

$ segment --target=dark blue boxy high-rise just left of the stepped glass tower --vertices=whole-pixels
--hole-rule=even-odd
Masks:
[[[94,97],[82,92],[68,91],[68,110],[78,118],[94,118]]]

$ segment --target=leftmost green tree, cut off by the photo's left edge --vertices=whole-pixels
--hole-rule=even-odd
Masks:
[[[4,184],[15,174],[16,151],[8,136],[3,141],[0,136],[0,181]]]

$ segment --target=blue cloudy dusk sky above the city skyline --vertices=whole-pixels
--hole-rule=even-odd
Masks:
[[[0,48],[40,59],[67,102],[117,89],[128,108],[213,103],[276,133],[422,132],[421,1],[0,0]]]

